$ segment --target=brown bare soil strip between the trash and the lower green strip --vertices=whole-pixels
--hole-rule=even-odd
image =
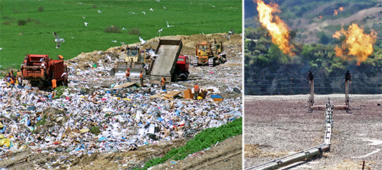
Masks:
[[[1,168],[6,169],[35,169],[41,165],[56,160],[50,166],[55,169],[133,169],[143,165],[151,158],[164,155],[173,147],[183,146],[186,140],[162,142],[138,148],[136,151],[118,153],[92,153],[81,155],[70,155],[64,151],[61,153],[49,153],[42,151],[31,151],[29,149],[19,153],[2,155]],[[71,166],[68,166],[71,164]]]

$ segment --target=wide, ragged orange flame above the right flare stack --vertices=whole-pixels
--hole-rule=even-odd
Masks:
[[[357,24],[351,24],[347,31],[344,31],[342,27],[341,31],[336,31],[333,34],[333,37],[340,39],[341,35],[344,35],[345,40],[342,42],[341,47],[335,46],[335,56],[339,56],[344,60],[352,60],[348,55],[356,56],[357,65],[360,65],[372,54],[373,44],[376,41],[375,31],[366,34],[363,33],[363,28],[359,28]]]

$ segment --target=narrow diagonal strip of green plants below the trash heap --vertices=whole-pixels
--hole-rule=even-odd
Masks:
[[[211,146],[211,144],[216,144],[217,142],[222,142],[224,139],[233,137],[235,135],[240,135],[243,133],[243,118],[235,119],[230,124],[219,126],[218,128],[207,128],[202,130],[201,133],[195,135],[194,139],[185,144],[180,148],[172,148],[171,151],[167,152],[163,157],[154,158],[146,162],[143,168],[138,169],[148,169],[156,164],[161,164],[169,159],[172,160],[183,160],[188,155],[196,153],[205,148]]]

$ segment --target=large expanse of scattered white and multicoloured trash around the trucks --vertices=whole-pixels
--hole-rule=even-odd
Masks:
[[[226,63],[215,67],[190,65],[190,78],[168,83],[167,90],[151,83],[149,76],[144,76],[144,87],[140,87],[138,77],[125,85],[124,76],[109,76],[123,56],[123,46],[81,53],[65,61],[69,83],[56,88],[56,96],[31,87],[26,80],[25,87],[13,90],[0,80],[0,168],[12,167],[9,161],[13,155],[26,151],[65,153],[58,160],[33,162],[33,166],[67,168],[73,164],[69,156],[134,151],[192,137],[242,117],[242,35],[236,36],[238,42],[233,42],[235,36],[224,42]],[[197,37],[206,41],[211,37],[224,39],[224,34]],[[181,39],[185,44],[182,54],[194,58],[192,37],[181,35]],[[193,93],[195,83],[205,95],[199,100],[186,99],[185,92]]]

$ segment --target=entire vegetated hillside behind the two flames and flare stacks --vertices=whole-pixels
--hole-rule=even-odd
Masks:
[[[244,4],[249,1],[244,1]],[[269,3],[269,1],[265,1]],[[380,1],[278,1],[282,12],[277,13],[288,24],[290,44],[295,56],[286,56],[271,41],[267,30],[254,16],[244,15],[244,93],[245,94],[307,94],[306,76],[315,75],[315,93],[343,93],[344,74],[353,74],[351,93],[381,93],[381,20]],[[343,7],[338,15],[334,10]],[[244,14],[246,14],[244,8]],[[248,13],[247,13],[248,14]],[[322,18],[320,19],[321,16]],[[246,18],[247,17],[247,18]],[[364,33],[378,33],[374,52],[359,66],[355,61],[335,55],[335,46],[344,41],[332,35],[350,24],[358,24]],[[351,56],[353,57],[353,56]]]

